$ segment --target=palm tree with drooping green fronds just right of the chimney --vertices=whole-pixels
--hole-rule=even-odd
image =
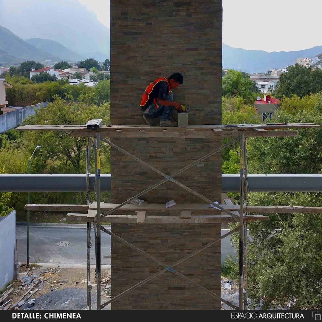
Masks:
[[[222,90],[225,97],[241,97],[246,104],[254,105],[255,93],[251,92],[253,81],[243,78],[241,71],[230,69],[223,78]]]

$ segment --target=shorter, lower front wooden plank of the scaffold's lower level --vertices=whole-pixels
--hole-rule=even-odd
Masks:
[[[87,222],[93,221],[93,218],[88,218],[86,213],[68,213],[67,220]],[[257,220],[267,220],[268,216],[262,215],[246,215],[244,222],[252,222]],[[137,216],[133,215],[109,215],[101,219],[105,223],[137,223]],[[145,224],[177,224],[177,223],[191,223],[191,224],[207,224],[207,223],[222,223],[233,221],[230,215],[218,216],[191,216],[191,219],[180,219],[180,216],[146,216]]]

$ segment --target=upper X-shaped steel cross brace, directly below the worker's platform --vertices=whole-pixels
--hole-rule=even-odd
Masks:
[[[207,155],[205,155],[205,156],[202,156],[202,157],[201,157],[201,158],[199,158],[198,160],[196,160],[196,161],[194,161],[193,163],[191,163],[191,164],[189,164],[189,165],[185,166],[184,168],[182,168],[182,169],[180,169],[180,170],[176,171],[176,172],[175,172],[174,174],[172,174],[172,175],[166,175],[166,174],[165,174],[165,173],[163,173],[162,171],[160,171],[160,170],[156,169],[155,167],[153,167],[153,166],[149,165],[148,163],[146,163],[146,162],[142,161],[141,159],[139,159],[138,157],[136,157],[136,156],[134,156],[133,154],[129,153],[128,151],[126,151],[126,150],[122,149],[121,147],[118,147],[116,144],[114,144],[114,143],[110,142],[110,141],[109,141],[109,140],[107,140],[106,138],[103,138],[102,140],[103,140],[105,143],[109,144],[111,147],[116,148],[118,151],[120,151],[120,152],[124,153],[124,154],[125,154],[125,155],[127,155],[127,156],[130,156],[131,158],[133,158],[133,159],[134,159],[134,160],[136,160],[137,162],[139,162],[139,163],[143,164],[144,166],[147,166],[149,169],[151,169],[151,170],[155,171],[155,172],[156,172],[156,173],[158,173],[159,175],[162,175],[162,176],[163,176],[163,177],[165,177],[166,179],[163,179],[163,180],[161,180],[161,181],[157,182],[155,185],[153,185],[153,186],[151,186],[151,187],[147,188],[146,190],[144,190],[144,191],[140,192],[139,194],[137,194],[137,195],[135,195],[134,197],[132,197],[132,198],[128,199],[128,200],[127,200],[127,201],[125,201],[124,203],[119,204],[118,206],[114,207],[113,209],[109,210],[109,211],[108,211],[108,212],[106,212],[106,213],[103,213],[103,214],[101,215],[101,218],[102,218],[102,217],[105,217],[105,216],[108,216],[109,214],[111,214],[111,213],[113,213],[115,210],[117,210],[118,208],[122,207],[122,206],[123,206],[123,205],[125,205],[125,204],[128,204],[131,200],[133,200],[133,199],[135,199],[135,198],[137,198],[137,197],[139,197],[139,196],[141,196],[141,195],[143,195],[143,194],[147,193],[148,191],[150,191],[150,190],[152,190],[152,189],[156,188],[157,186],[162,185],[162,184],[163,184],[163,183],[165,183],[166,181],[170,180],[170,181],[172,181],[173,183],[175,183],[176,185],[179,185],[180,187],[184,188],[185,190],[189,191],[190,193],[192,193],[192,194],[196,195],[197,197],[199,197],[199,198],[203,199],[203,200],[204,200],[204,201],[206,201],[207,203],[209,203],[209,204],[214,204],[216,208],[218,208],[218,209],[220,209],[221,211],[223,211],[223,212],[228,213],[229,215],[231,215],[235,221],[239,221],[239,216],[238,216],[238,215],[236,215],[236,214],[232,213],[230,210],[224,209],[223,207],[221,207],[221,206],[220,206],[220,205],[218,205],[218,204],[215,204],[212,200],[210,200],[210,199],[208,199],[208,198],[204,197],[202,194],[199,194],[198,192],[196,192],[196,191],[194,191],[193,189],[191,189],[191,188],[187,187],[186,185],[183,185],[182,183],[180,183],[179,181],[177,181],[177,180],[175,180],[175,179],[173,178],[175,175],[179,175],[180,173],[182,173],[182,172],[184,172],[185,170],[187,170],[187,169],[191,168],[192,166],[194,166],[194,165],[198,164],[199,162],[203,161],[204,159],[206,159],[206,158],[208,158],[208,157],[212,156],[213,154],[215,154],[215,153],[217,153],[217,152],[221,151],[223,148],[225,148],[225,147],[227,147],[227,146],[229,146],[229,145],[231,145],[231,144],[235,143],[235,142],[238,140],[238,138],[235,138],[235,139],[233,139],[232,141],[230,141],[230,142],[226,143],[225,145],[223,145],[223,146],[219,147],[218,149],[216,149],[216,150],[214,150],[214,151],[212,151],[212,152],[208,153],[208,154],[207,154]]]

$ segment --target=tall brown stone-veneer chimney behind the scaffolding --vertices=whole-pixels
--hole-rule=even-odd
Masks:
[[[184,83],[174,99],[189,104],[189,124],[221,123],[222,2],[111,0],[111,123],[145,124],[139,108],[147,84],[173,72]],[[137,157],[170,174],[209,151],[221,140],[202,138],[113,139]],[[112,149],[111,202],[120,203],[155,184],[159,175]],[[221,153],[176,179],[214,201],[221,200]],[[142,196],[149,203],[203,203],[167,182]],[[148,214],[148,213],[147,213]],[[169,211],[171,214],[171,209]],[[111,231],[171,265],[220,237],[220,225],[125,225]],[[112,239],[112,296],[161,268]],[[177,269],[218,295],[221,292],[221,243],[187,260]],[[220,301],[166,272],[112,303],[112,309],[220,309]]]

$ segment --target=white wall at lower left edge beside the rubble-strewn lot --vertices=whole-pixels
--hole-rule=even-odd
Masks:
[[[3,218],[3,219],[2,219]],[[1,220],[2,219],[2,220]],[[0,291],[14,278],[16,211],[0,217]]]

